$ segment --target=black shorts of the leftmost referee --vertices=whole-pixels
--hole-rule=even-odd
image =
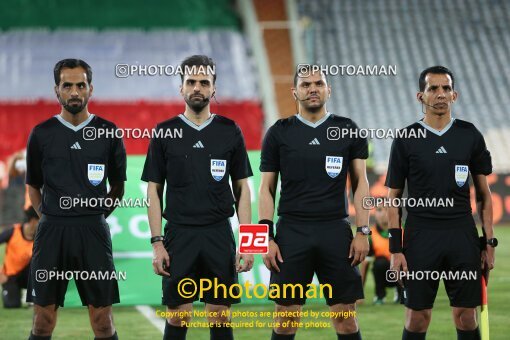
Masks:
[[[113,272],[110,228],[103,215],[43,215],[34,240],[27,302],[63,307],[68,279],[75,278],[84,306],[119,303]]]

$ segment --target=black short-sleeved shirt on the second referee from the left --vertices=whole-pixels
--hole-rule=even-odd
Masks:
[[[172,224],[199,226],[233,216],[229,177],[253,175],[239,126],[216,114],[197,126],[180,114],[156,127],[166,129],[182,129],[182,138],[153,138],[142,174],[145,182],[166,181],[163,217]]]

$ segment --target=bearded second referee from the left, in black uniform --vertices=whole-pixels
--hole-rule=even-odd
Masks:
[[[194,55],[182,62],[181,69],[186,71],[181,75],[180,90],[186,110],[158,124],[156,130],[182,129],[183,138],[154,138],[142,175],[142,180],[149,182],[154,272],[163,276],[163,304],[175,313],[167,318],[164,339],[186,338],[182,322],[190,321],[192,302],[198,299],[198,294],[180,295],[182,279],[192,279],[198,285],[201,278],[216,278],[229,287],[238,282],[237,272],[253,266],[253,255],[236,255],[229,222],[235,203],[239,222],[251,223],[248,177],[252,171],[243,135],[234,121],[209,111],[216,81],[216,74],[209,72],[215,69],[212,59]],[[167,220],[164,237],[160,236],[162,217]],[[217,313],[208,315],[214,324],[211,339],[233,339],[232,328],[224,326],[230,320],[230,305],[239,299],[208,291],[201,301],[207,312]]]

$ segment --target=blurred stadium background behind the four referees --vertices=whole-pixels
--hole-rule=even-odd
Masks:
[[[18,158],[30,130],[60,110],[53,91],[53,66],[58,60],[76,57],[92,66],[91,112],[122,128],[152,128],[183,111],[178,92],[180,77],[123,78],[116,75],[116,65],[175,66],[191,54],[206,54],[216,61],[218,100],[212,103],[212,111],[234,119],[243,130],[255,172],[250,182],[253,221],[257,221],[261,139],[276,119],[296,113],[290,93],[295,66],[314,62],[396,65],[396,76],[329,77],[333,91],[328,110],[348,116],[364,128],[401,128],[420,119],[421,107],[415,100],[420,71],[436,64],[452,69],[460,93],[454,115],[473,122],[486,138],[495,170],[489,176],[494,220],[500,225],[508,224],[509,13],[510,2],[506,0],[92,0],[80,3],[3,0],[0,4],[0,225],[7,226],[22,218],[24,177]],[[129,156],[126,197],[145,197],[145,185],[139,178],[148,142],[125,139]],[[383,183],[390,145],[391,140],[371,140],[369,180],[374,195],[384,194],[386,190]],[[13,168],[19,171],[10,172]],[[473,208],[476,209],[474,203]],[[127,271],[128,279],[120,283],[122,305],[158,306],[160,280],[152,273],[145,209],[117,209],[108,221],[117,268]],[[506,234],[506,228],[498,228],[496,235],[499,233]],[[504,243],[503,247],[506,247]],[[0,247],[0,253],[3,252]],[[499,263],[502,262],[499,257]],[[503,266],[498,268],[495,276],[500,277],[501,285],[508,285],[508,266],[503,270]],[[268,278],[269,273],[258,259],[252,272],[240,279],[241,282],[268,282]],[[247,305],[265,302],[245,301]],[[66,306],[79,305],[71,286]],[[272,306],[250,308],[272,309]],[[118,325],[119,335],[124,333],[128,338],[131,333],[127,329],[144,319],[136,319],[134,315],[138,312],[132,307],[119,310],[123,315]],[[383,317],[384,312],[380,309],[378,312]],[[448,313],[446,308],[443,312]],[[28,318],[24,321],[14,321],[13,314],[8,312],[0,313],[0,338],[7,324],[13,325],[15,331],[8,334],[14,338],[28,334],[29,313],[14,314]],[[59,320],[55,338],[64,338],[66,330],[73,327],[85,327],[86,334],[86,324],[71,326],[69,315],[73,313],[79,312],[61,313],[67,321],[62,325]],[[394,308],[390,313],[395,313],[394,326],[400,332],[403,310]],[[368,324],[363,316],[360,314],[360,322]],[[161,326],[162,320],[154,322]],[[453,330],[450,319],[441,322],[447,332],[444,334],[453,336],[447,331]],[[122,329],[122,325],[126,328]],[[503,322],[495,327],[507,327],[506,334],[510,331]],[[152,331],[157,333],[156,328]],[[321,338],[322,330],[303,333],[315,331]],[[256,334],[265,336],[267,330],[254,332],[238,330],[236,334],[241,339],[251,339]],[[196,334],[198,339],[208,332]],[[330,330],[324,334],[330,334]],[[444,334],[438,331],[435,336],[444,338]]]

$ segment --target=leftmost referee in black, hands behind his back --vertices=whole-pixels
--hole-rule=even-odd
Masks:
[[[51,272],[80,271],[87,276],[95,272],[96,277],[98,272],[115,272],[105,221],[113,209],[96,203],[98,198],[121,198],[126,180],[122,139],[83,136],[84,128],[116,128],[88,112],[93,90],[90,66],[83,60],[64,59],[55,65],[54,77],[62,111],[37,125],[27,146],[26,183],[30,200],[41,214],[27,291],[27,301],[34,303],[30,339],[50,339],[57,308],[64,306],[68,281],[62,276],[51,278]],[[80,204],[73,206],[77,198]],[[87,206],[92,200],[97,207]],[[111,308],[119,302],[117,281],[75,281],[96,338],[117,339]]]

